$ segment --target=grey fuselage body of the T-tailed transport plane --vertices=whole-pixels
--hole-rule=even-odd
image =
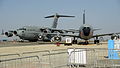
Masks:
[[[49,29],[42,30],[41,27],[34,27],[34,26],[25,26],[17,30],[17,36],[23,40],[29,41],[37,41],[39,40],[39,36],[43,33],[50,33]],[[44,41],[50,41],[54,35],[45,35]]]

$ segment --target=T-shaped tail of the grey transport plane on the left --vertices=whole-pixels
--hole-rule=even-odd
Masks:
[[[55,15],[51,15],[51,16],[47,16],[45,18],[54,18],[54,21],[53,21],[53,25],[52,25],[52,28],[56,28],[57,27],[57,22],[58,22],[58,18],[60,17],[75,17],[75,16],[67,16],[67,15],[58,15],[57,13]]]

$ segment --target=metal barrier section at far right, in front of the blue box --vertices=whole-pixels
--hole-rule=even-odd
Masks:
[[[111,57],[108,56],[108,52],[111,54]],[[118,49],[95,49],[96,60],[94,62],[97,68],[120,68],[120,56],[119,59],[115,59],[117,57],[116,53],[120,53]],[[115,58],[114,58],[115,57]]]

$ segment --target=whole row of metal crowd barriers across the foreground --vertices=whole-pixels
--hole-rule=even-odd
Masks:
[[[0,68],[120,68],[120,59],[108,57],[108,52],[114,55],[120,50],[70,48],[6,54],[0,55]]]

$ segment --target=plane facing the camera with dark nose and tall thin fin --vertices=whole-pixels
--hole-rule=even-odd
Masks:
[[[97,34],[97,35],[93,35],[94,31],[96,30],[100,30],[100,29],[94,29],[91,25],[88,25],[85,23],[85,10],[83,13],[83,25],[80,26],[79,30],[74,30],[75,33],[77,32],[78,35],[76,34],[59,34],[59,36],[70,36],[70,37],[74,37],[73,42],[77,43],[77,40],[75,40],[75,38],[80,38],[85,40],[85,44],[88,44],[88,40],[91,38],[95,38],[94,43],[99,43],[99,38],[101,36],[111,36],[111,39],[113,39],[114,37],[118,37],[120,34],[119,33],[107,33],[107,34]]]

